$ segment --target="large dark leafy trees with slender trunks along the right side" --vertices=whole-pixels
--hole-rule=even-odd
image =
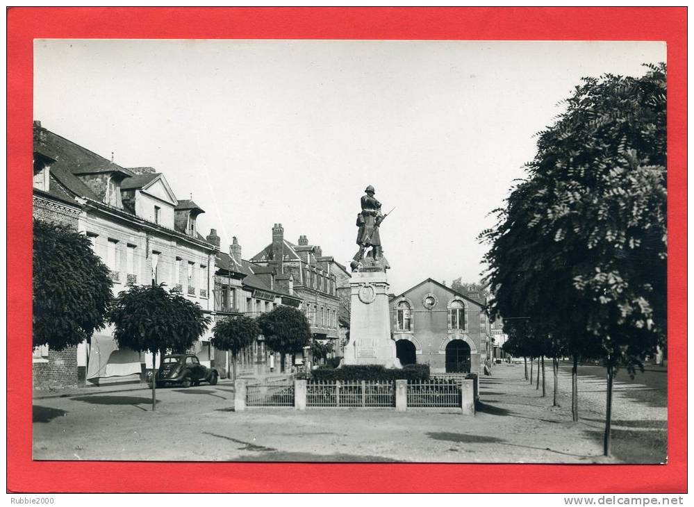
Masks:
[[[647,67],[584,78],[481,235],[509,349],[572,357],[574,419],[579,361],[604,363],[606,455],[615,369],[666,349],[666,66]]]

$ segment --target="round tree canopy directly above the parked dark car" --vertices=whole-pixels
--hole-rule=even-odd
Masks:
[[[119,347],[183,353],[204,333],[210,318],[199,304],[163,285],[131,286],[115,299],[108,313]]]

